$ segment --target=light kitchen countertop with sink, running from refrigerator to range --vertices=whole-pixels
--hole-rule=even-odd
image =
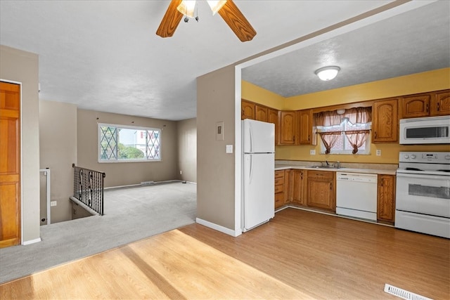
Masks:
[[[319,170],[319,171],[332,171],[332,172],[342,172],[342,173],[364,173],[364,174],[382,174],[382,175],[395,175],[397,171],[397,165],[380,165],[380,169],[376,169],[378,166],[377,164],[369,165],[368,164],[356,164],[356,165],[349,165],[342,166],[338,168],[333,167],[323,167],[323,168],[315,168],[314,166],[320,165],[320,162],[305,162],[305,164],[302,164],[301,162],[293,162],[293,164],[286,164],[283,163],[275,163],[275,171],[277,170],[285,170],[285,169],[303,169],[303,170]],[[330,163],[333,164],[333,163]]]

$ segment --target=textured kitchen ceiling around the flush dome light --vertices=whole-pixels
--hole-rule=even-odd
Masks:
[[[314,71],[338,65],[338,77]],[[284,97],[450,67],[450,1],[437,1],[242,70]]]

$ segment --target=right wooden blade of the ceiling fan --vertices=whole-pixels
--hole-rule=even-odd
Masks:
[[[251,41],[256,35],[250,22],[239,11],[238,6],[232,0],[227,0],[226,4],[219,10],[219,15],[229,25],[231,30],[238,36],[240,41]]]

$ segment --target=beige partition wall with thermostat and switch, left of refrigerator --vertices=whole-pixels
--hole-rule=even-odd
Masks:
[[[224,141],[216,124],[224,122]],[[197,216],[200,221],[235,230],[235,68],[197,79]]]

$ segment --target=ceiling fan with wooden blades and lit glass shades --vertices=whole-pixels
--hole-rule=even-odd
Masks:
[[[232,0],[207,2],[210,4],[213,14],[219,13],[240,41],[251,41],[255,37],[255,29]],[[193,18],[194,8],[195,1],[172,0],[156,34],[160,37],[172,37],[183,15]]]

